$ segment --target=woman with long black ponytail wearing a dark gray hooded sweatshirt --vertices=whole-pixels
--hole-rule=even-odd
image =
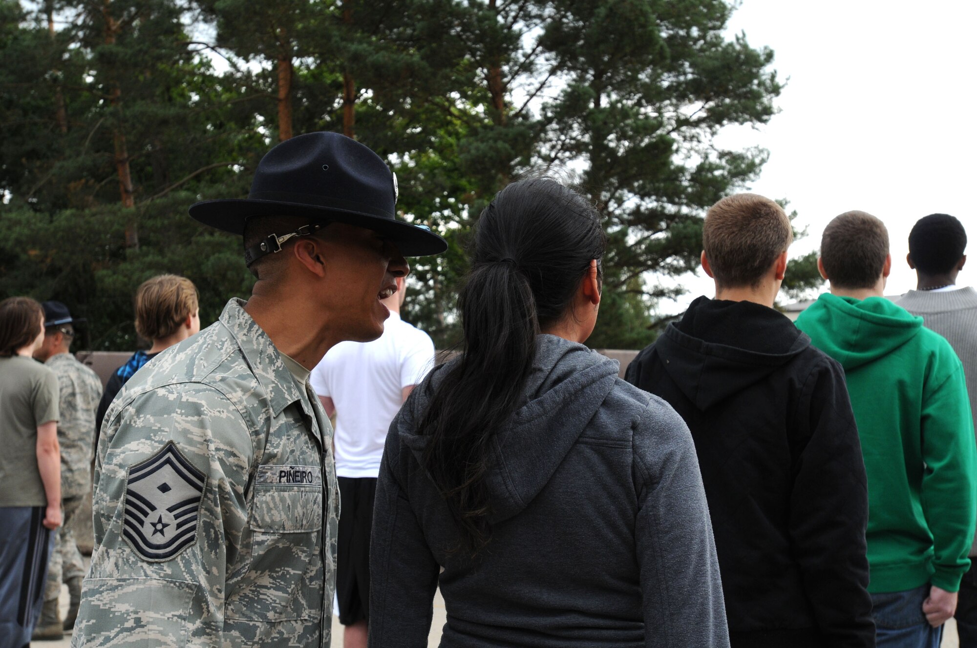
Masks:
[[[582,343],[596,209],[551,180],[483,212],[464,350],[391,425],[370,545],[371,648],[729,646],[689,429]]]

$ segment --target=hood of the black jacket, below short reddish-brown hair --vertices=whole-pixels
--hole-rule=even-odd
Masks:
[[[773,308],[701,297],[655,348],[669,378],[704,410],[763,380],[810,345]]]

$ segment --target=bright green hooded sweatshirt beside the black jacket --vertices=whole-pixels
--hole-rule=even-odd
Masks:
[[[880,297],[822,295],[797,328],[845,370],[869,477],[869,591],[956,591],[977,521],[977,450],[954,349]]]

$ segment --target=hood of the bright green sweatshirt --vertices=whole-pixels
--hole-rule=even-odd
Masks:
[[[826,293],[800,314],[797,326],[848,370],[908,343],[922,329],[922,317],[882,297],[856,300]]]

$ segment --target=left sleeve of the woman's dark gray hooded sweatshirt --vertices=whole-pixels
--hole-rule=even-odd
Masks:
[[[398,482],[399,415],[380,464],[370,535],[369,646],[424,648],[440,567]]]

